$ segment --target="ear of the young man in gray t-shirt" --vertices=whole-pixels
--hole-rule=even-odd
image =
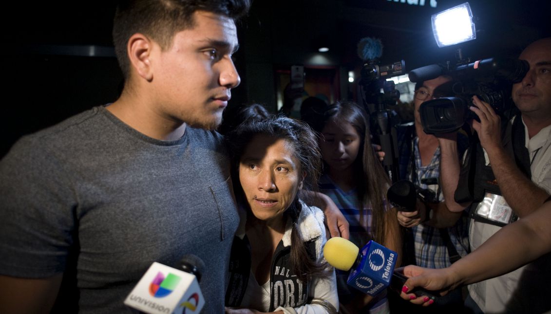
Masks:
[[[155,43],[149,37],[136,33],[128,40],[127,52],[130,64],[136,73],[151,82],[153,69],[150,57]]]

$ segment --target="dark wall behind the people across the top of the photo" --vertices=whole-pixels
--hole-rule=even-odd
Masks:
[[[383,64],[404,59],[410,70],[453,60],[457,47],[436,46],[430,16],[463,1],[433,0],[436,8],[430,2],[253,1],[238,26],[242,84],[230,106],[256,101],[276,110],[279,80],[292,64],[332,73],[336,95],[353,95],[356,86],[347,82],[347,73],[361,66],[356,45],[366,36],[381,39]],[[470,4],[479,32],[477,40],[461,45],[466,56],[516,57],[531,41],[551,35],[547,0]],[[23,134],[117,98],[122,76],[111,48],[114,10],[111,1],[4,4],[0,156]],[[322,44],[331,50],[318,53]]]

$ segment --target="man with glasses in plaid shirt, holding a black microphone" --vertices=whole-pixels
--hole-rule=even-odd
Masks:
[[[452,213],[446,208],[439,187],[440,148],[438,139],[423,131],[419,107],[424,101],[451,96],[451,77],[442,75],[415,84],[414,125],[398,128],[400,177],[434,193],[432,202],[418,202],[414,212],[398,212],[399,223],[413,232],[415,264],[426,268],[449,267],[468,251],[467,214]],[[458,142],[462,153],[468,146],[465,136]],[[458,163],[458,161],[457,161]],[[459,163],[457,164],[459,166]],[[413,262],[413,261],[412,261]],[[436,300],[430,310],[460,311],[461,289],[450,291]]]

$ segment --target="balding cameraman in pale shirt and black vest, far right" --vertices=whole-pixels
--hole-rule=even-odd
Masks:
[[[504,124],[503,136],[500,116],[476,96],[471,110],[480,122],[472,121],[471,125],[479,145],[469,149],[463,169],[458,166],[456,134],[439,135],[444,198],[453,212],[469,207],[471,251],[515,220],[500,218],[525,217],[541,207],[551,192],[551,37],[533,42],[519,59],[525,59],[530,70],[512,86],[512,99],[520,115]],[[468,188],[468,181],[463,180],[467,169],[475,177]],[[458,192],[469,188],[474,194],[482,191],[483,201],[461,198]],[[484,210],[486,217],[482,218]],[[545,280],[549,280],[545,269],[548,261],[549,256],[544,256],[514,272],[469,285],[471,299],[466,305],[475,312],[491,313],[551,310],[549,297],[541,291],[541,286],[548,283]]]

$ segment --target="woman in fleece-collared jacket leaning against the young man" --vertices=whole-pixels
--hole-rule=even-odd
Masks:
[[[226,313],[336,313],[334,270],[323,258],[323,213],[302,202],[321,154],[314,132],[285,117],[242,123],[226,137],[245,209],[230,258]],[[231,308],[230,308],[231,307]],[[255,311],[256,310],[256,311]]]

